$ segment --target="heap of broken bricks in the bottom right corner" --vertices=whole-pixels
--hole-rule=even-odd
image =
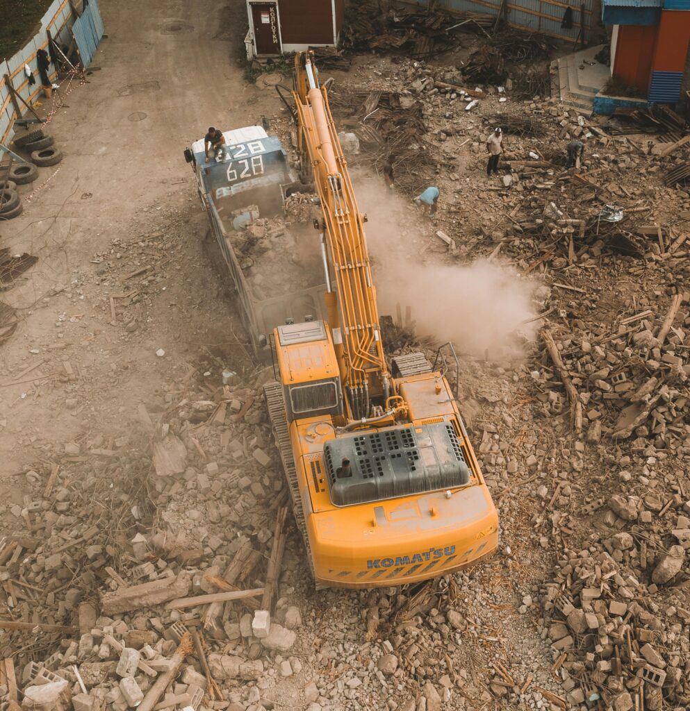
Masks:
[[[664,594],[687,577],[690,503],[672,512],[676,528],[664,539],[670,533],[676,543],[666,547],[644,525],[659,513],[652,501],[614,496],[603,520],[617,533],[593,535],[579,552],[563,550],[542,599],[568,707],[601,700],[616,711],[654,711],[690,703],[690,611],[684,592]],[[638,518],[639,526],[624,530]]]

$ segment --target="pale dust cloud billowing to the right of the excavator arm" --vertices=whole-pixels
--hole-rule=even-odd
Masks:
[[[376,183],[361,178],[355,191],[360,210],[368,216],[366,237],[379,314],[396,319],[398,304],[403,316],[410,306],[418,336],[452,341],[462,353],[519,353],[536,333],[536,323],[524,323],[536,313],[534,284],[520,279],[514,269],[487,260],[432,263],[443,257],[420,253],[426,237],[420,234],[416,215],[403,198]],[[449,236],[460,245],[462,233]]]

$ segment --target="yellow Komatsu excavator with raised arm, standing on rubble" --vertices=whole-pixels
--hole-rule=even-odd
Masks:
[[[315,582],[388,587],[474,565],[497,548],[497,510],[444,375],[422,353],[386,362],[366,217],[312,53],[295,56],[292,97],[327,320],[275,328],[264,390]]]

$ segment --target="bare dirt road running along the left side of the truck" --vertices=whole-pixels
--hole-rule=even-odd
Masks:
[[[132,406],[200,348],[232,350],[223,351],[233,311],[226,280],[209,279],[213,250],[203,248],[206,221],[182,151],[209,124],[245,125],[275,110],[236,61],[241,13],[239,3],[210,0],[193,10],[102,3],[102,69],[61,87],[64,106],[48,126],[65,159],[21,188],[33,197],[1,228],[11,252],[39,259],[4,294],[21,325],[0,353],[2,382],[31,366],[37,378],[2,390],[4,474],[78,442],[96,422],[117,435]],[[116,297],[115,325],[113,294],[132,294]]]

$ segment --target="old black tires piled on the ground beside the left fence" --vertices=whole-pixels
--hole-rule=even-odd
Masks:
[[[17,193],[18,185],[33,183],[38,178],[38,168],[58,164],[63,154],[55,148],[55,139],[37,129],[14,139],[14,147],[28,156],[30,163],[14,161],[6,178],[0,179],[0,222],[21,215],[23,205]]]

